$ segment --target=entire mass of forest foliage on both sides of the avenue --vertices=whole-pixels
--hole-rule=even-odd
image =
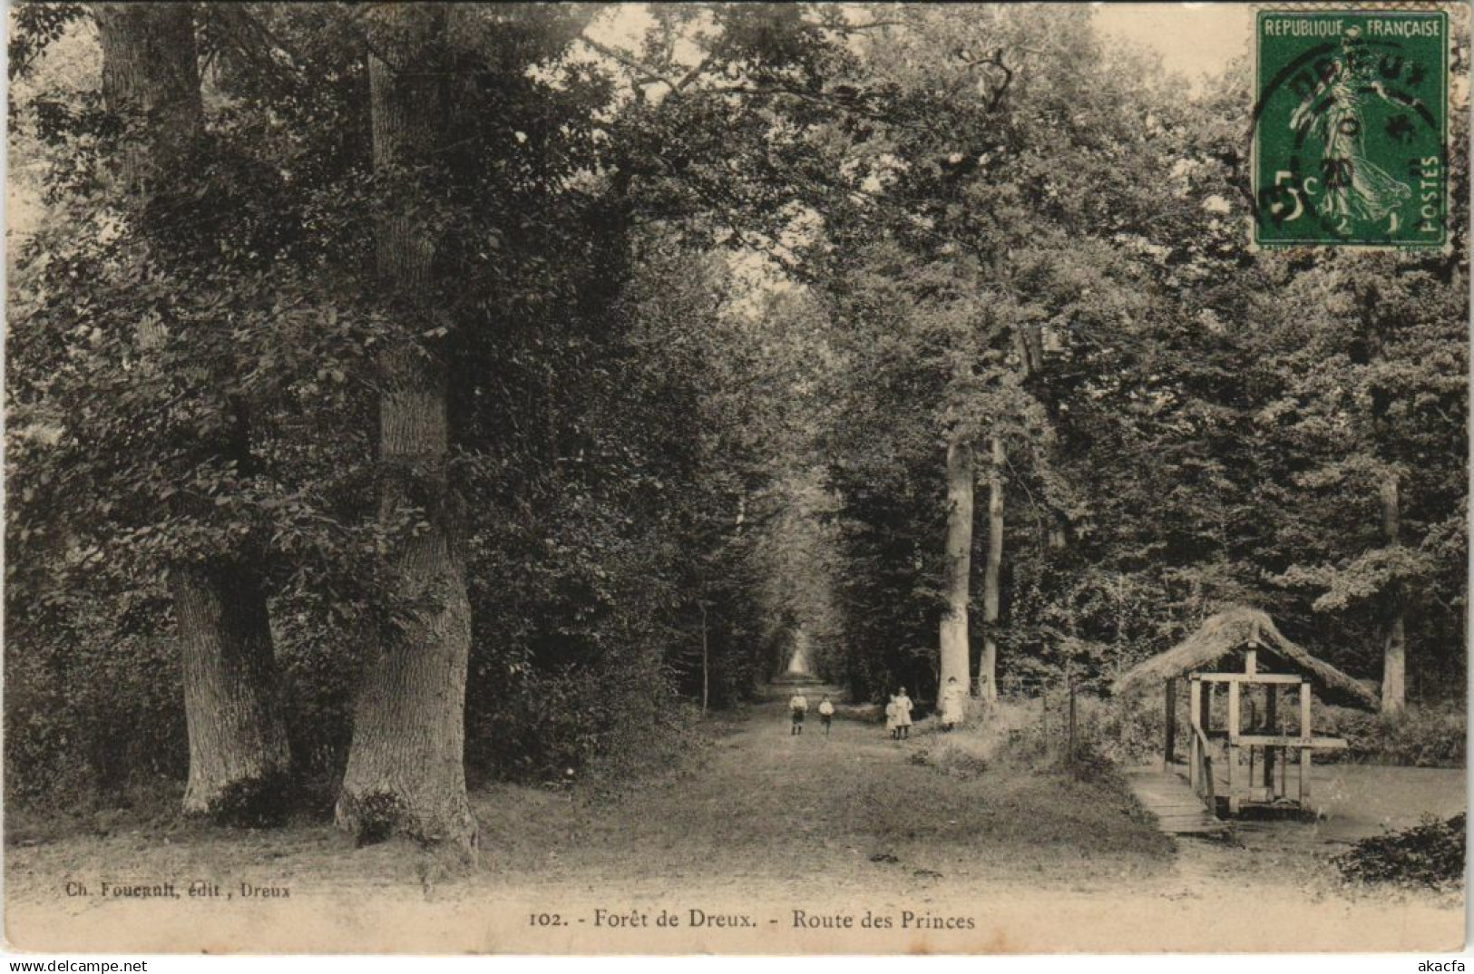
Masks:
[[[432,520],[473,781],[635,760],[796,645],[930,697],[949,438],[1008,498],[1005,691],[1248,601],[1371,679],[1396,610],[1411,697],[1461,696],[1467,112],[1447,253],[1253,253],[1243,65],[1185,97],[1085,7],[616,13],[454,7],[444,152],[395,168],[358,9],[198,4],[205,124],[137,193],[158,119],[106,103],[88,7],[18,7],[12,794],[184,775],[168,582],[224,558],[324,807]],[[429,324],[376,280],[391,220],[438,242]],[[386,355],[445,376],[444,508],[380,516]]]

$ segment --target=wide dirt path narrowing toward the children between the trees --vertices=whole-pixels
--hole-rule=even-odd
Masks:
[[[803,687],[809,713],[803,732],[792,734],[792,693],[775,687],[777,698],[713,718],[697,766],[610,806],[575,803],[572,819],[560,822],[566,831],[535,843],[548,855],[519,863],[528,878],[557,881],[569,869],[628,877],[631,863],[641,863],[677,881],[761,877],[833,889],[965,872],[957,846],[983,821],[965,813],[983,809],[980,796],[915,763],[926,750],[920,738],[892,741],[881,725],[845,716],[843,706],[824,734],[822,688]],[[554,855],[565,843],[582,849],[566,869]]]

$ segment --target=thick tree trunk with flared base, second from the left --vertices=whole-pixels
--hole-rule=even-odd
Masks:
[[[444,137],[447,9],[392,6],[371,16],[374,169],[392,180],[407,167],[432,165]],[[404,211],[377,227],[379,280],[404,314],[420,318],[416,326],[426,326],[416,330],[427,330],[435,320],[435,240],[408,212],[419,187],[401,181],[397,190]],[[425,517],[391,557],[392,594],[404,616],[366,662],[338,824],[361,843],[404,834],[470,852],[476,844],[464,771],[470,601],[445,479],[445,376],[413,354],[386,355],[380,365],[386,483],[380,516],[392,523],[413,498]]]

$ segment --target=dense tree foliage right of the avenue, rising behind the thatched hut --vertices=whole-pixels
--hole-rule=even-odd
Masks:
[[[939,141],[887,162],[898,187],[933,184],[850,214],[881,242],[825,280],[849,370],[828,464],[855,688],[935,681],[943,445],[971,429],[977,449],[1007,444],[1005,688],[1066,672],[1106,685],[1248,603],[1371,681],[1396,614],[1411,696],[1461,703],[1467,113],[1450,115],[1449,252],[1254,253],[1247,65],[1184,99],[1111,52],[1044,56],[1008,10],[907,13],[918,43],[1027,53],[995,97],[995,81],[946,87],[904,40],[876,40],[881,69],[920,72],[949,108],[920,136]],[[986,547],[976,532],[974,564]]]

